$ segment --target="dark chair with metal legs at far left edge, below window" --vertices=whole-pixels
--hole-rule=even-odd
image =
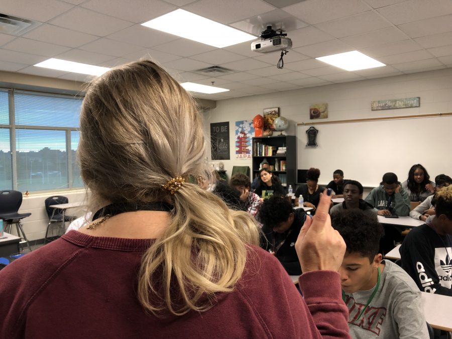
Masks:
[[[11,233],[11,226],[16,225],[17,236],[23,239],[19,244],[27,244],[31,251],[30,243],[22,228],[21,220],[30,216],[31,213],[18,213],[22,205],[22,193],[14,190],[0,191],[0,218],[6,222],[5,230]],[[22,248],[23,249],[23,248]]]

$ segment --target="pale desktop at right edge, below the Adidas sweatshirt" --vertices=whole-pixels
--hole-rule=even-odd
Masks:
[[[452,297],[421,292],[425,320],[433,328],[452,331]]]

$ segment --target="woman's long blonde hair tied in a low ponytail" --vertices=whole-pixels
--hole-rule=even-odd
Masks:
[[[170,202],[171,223],[143,255],[138,299],[154,314],[206,310],[230,292],[245,267],[258,228],[188,180],[205,173],[202,121],[193,98],[152,61],[112,69],[90,85],[80,116],[78,155],[92,206]],[[209,301],[210,300],[210,301]]]

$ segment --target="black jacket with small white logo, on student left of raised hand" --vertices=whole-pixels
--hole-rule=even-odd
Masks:
[[[273,225],[263,225],[264,236],[261,238],[261,247],[267,251],[276,251],[275,257],[289,275],[300,275],[301,266],[295,251],[295,242],[303,226],[306,212],[303,208],[298,208],[294,209],[293,213],[292,225],[285,233],[273,232]]]

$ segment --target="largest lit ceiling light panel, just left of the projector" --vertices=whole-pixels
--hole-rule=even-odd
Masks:
[[[256,39],[254,35],[181,9],[142,25],[218,48]]]

